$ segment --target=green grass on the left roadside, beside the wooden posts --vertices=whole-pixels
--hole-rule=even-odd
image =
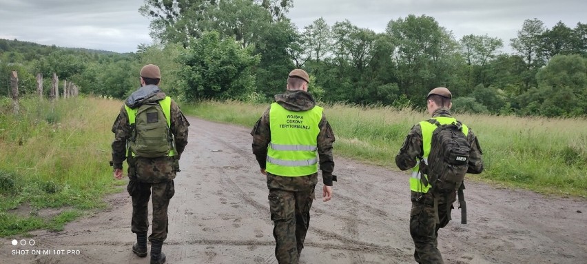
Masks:
[[[120,101],[70,98],[12,102],[0,98],[0,236],[63,230],[85,210],[105,206],[103,196],[122,184],[112,179],[110,132]],[[30,205],[33,212],[16,213]],[[39,216],[43,208],[63,208]]]

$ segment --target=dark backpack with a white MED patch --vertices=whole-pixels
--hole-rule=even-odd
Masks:
[[[432,191],[449,193],[459,190],[468,169],[471,145],[466,140],[459,121],[441,125],[436,119],[428,122],[437,126],[432,132],[428,156],[428,179]]]

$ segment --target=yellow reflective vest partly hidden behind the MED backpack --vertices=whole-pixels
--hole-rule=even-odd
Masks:
[[[457,119],[454,119],[453,117],[445,116],[433,117],[432,119],[436,119],[436,121],[438,121],[438,123],[441,125],[455,123],[457,121]],[[430,154],[430,148],[432,146],[432,132],[434,132],[437,126],[433,123],[430,123],[429,121],[422,121],[420,122],[420,128],[422,129],[422,150],[424,151],[422,159],[424,159],[424,162],[428,163],[428,155]],[[462,125],[462,131],[465,136],[468,134],[468,128],[466,125]],[[422,181],[420,181],[422,175],[419,170],[420,162],[418,162],[418,164],[416,164],[412,169],[412,174],[410,177],[410,190],[413,192],[426,193],[432,186],[430,183],[428,183],[426,186],[422,184]],[[424,177],[426,177],[426,180],[428,179],[427,175],[424,175]]]

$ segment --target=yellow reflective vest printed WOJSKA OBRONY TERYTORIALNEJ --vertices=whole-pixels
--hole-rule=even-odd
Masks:
[[[306,176],[318,172],[316,147],[322,108],[290,111],[278,103],[269,110],[271,143],[265,170],[278,176]]]

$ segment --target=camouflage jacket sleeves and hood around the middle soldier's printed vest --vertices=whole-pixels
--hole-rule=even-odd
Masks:
[[[311,94],[302,90],[288,90],[285,94],[278,94],[275,96],[275,101],[283,108],[296,112],[311,110],[316,105],[316,101],[314,101]],[[263,112],[262,116],[255,124],[253,131],[251,131],[251,135],[253,136],[253,153],[262,169],[265,169],[265,163],[267,162],[267,145],[271,142],[269,110],[271,110],[271,106]],[[326,120],[324,112],[322,112],[322,119],[320,119],[318,127],[320,128],[320,133],[318,134],[317,147],[318,157],[320,158],[320,170],[322,170],[322,181],[325,185],[331,186],[333,181],[332,172],[334,170],[332,143],[335,139],[332,128]]]

